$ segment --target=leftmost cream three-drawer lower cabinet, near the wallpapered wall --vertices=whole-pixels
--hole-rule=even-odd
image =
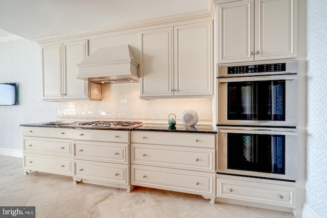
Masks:
[[[39,171],[72,176],[72,129],[24,127],[25,174]]]

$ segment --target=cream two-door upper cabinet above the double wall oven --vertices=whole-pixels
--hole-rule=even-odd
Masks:
[[[295,58],[295,4],[294,0],[218,4],[217,63]]]

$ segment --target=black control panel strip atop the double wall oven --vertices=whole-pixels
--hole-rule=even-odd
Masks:
[[[279,71],[286,71],[286,63],[256,64],[256,65],[227,67],[227,74],[251,74],[255,72],[279,72]]]

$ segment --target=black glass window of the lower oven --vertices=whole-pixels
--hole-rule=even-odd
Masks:
[[[285,174],[285,135],[227,133],[227,168]]]

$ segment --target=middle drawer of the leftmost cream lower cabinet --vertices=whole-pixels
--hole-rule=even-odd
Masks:
[[[72,140],[24,137],[24,153],[72,156]]]

